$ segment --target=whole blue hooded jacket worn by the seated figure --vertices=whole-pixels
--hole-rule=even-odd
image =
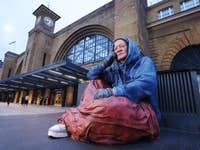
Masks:
[[[123,39],[128,43],[128,55],[124,62],[114,63],[106,69],[98,64],[90,69],[87,77],[90,80],[97,78],[105,80],[112,85],[115,96],[125,96],[136,103],[148,100],[160,121],[154,63],[149,57],[141,55],[131,39],[127,37]]]

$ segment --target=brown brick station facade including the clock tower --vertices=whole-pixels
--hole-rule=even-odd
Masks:
[[[60,18],[56,13],[41,5],[33,14],[36,16],[34,28],[29,32],[26,50],[21,54],[7,52],[1,79],[14,77],[51,65],[68,56],[73,45],[90,35],[101,35],[112,41],[117,37],[128,36],[141,48],[145,55],[150,56],[158,71],[176,70],[172,64],[174,58],[181,57],[185,48],[194,49],[194,55],[200,56],[200,5],[198,0],[163,0],[147,7],[147,2],[139,0],[113,0],[101,8],[91,12],[76,22],[54,33],[55,22]],[[181,54],[179,56],[179,54]],[[106,55],[105,55],[106,56]],[[193,55],[191,55],[193,56]],[[200,69],[198,59],[185,56],[181,69]],[[179,60],[177,58],[177,60]],[[100,60],[100,59],[99,59]],[[190,61],[193,61],[190,63]],[[98,61],[79,64],[90,68]],[[192,64],[196,67],[191,67]],[[51,97],[49,104],[61,105],[63,92],[45,89],[34,96],[34,91],[15,91],[14,102],[21,102],[22,97],[29,93],[29,103],[39,104],[41,97]],[[72,104],[74,87],[69,85],[64,90],[65,105]],[[71,94],[70,94],[71,93]],[[33,102],[33,97],[36,100]],[[39,97],[39,98],[38,98]],[[19,100],[18,100],[19,99]]]

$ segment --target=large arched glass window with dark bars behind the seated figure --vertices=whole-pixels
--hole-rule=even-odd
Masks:
[[[89,35],[77,41],[66,54],[74,64],[88,64],[108,56],[112,50],[112,41],[100,34]]]

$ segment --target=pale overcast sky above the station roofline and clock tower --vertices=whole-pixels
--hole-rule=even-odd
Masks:
[[[7,51],[17,54],[26,49],[28,32],[33,29],[32,14],[41,4],[58,14],[55,32],[103,6],[111,0],[1,0],[0,60]],[[159,1],[159,0],[149,0]],[[14,42],[16,41],[16,42]]]

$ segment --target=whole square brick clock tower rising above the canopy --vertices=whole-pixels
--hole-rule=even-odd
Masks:
[[[40,5],[33,15],[36,21],[34,28],[29,31],[22,72],[50,63],[55,22],[60,18],[44,5]]]

